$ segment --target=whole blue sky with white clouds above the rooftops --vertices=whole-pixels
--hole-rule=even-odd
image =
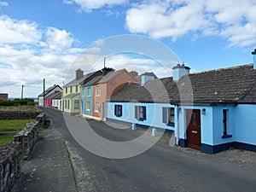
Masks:
[[[0,93],[37,97],[75,70],[172,75],[253,63],[255,0],[0,0]]]

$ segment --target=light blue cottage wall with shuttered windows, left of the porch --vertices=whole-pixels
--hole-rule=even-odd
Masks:
[[[114,115],[114,105],[123,106],[123,114],[121,117]],[[135,106],[146,107],[146,120],[140,121],[135,118]],[[173,126],[166,125],[162,122],[162,108],[174,108],[174,106],[168,103],[107,102],[107,118],[174,131]]]

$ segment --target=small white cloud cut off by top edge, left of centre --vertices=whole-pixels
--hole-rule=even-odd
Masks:
[[[113,6],[129,3],[129,0],[64,0],[67,4],[77,4],[84,12],[90,12],[92,9],[101,9],[104,6]]]

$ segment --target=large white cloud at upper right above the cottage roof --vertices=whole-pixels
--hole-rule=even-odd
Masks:
[[[126,12],[130,32],[152,38],[218,36],[230,46],[256,44],[256,2],[253,0],[154,0],[134,4]]]

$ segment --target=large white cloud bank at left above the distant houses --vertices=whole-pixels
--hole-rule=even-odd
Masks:
[[[71,32],[55,27],[38,28],[29,20],[0,16],[0,92],[20,97],[20,86],[26,84],[24,96],[38,96],[46,85],[62,85],[68,67],[81,47]]]

